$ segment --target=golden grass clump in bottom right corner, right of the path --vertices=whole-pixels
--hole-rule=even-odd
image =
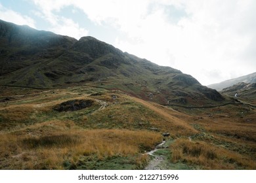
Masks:
[[[200,169],[256,169],[255,161],[236,152],[207,144],[178,139],[170,146],[171,161],[182,161]]]

